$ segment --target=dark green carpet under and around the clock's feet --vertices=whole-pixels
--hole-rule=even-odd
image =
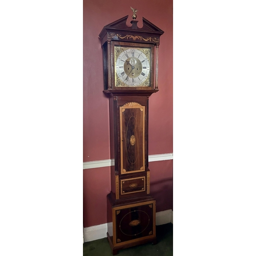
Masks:
[[[120,256],[171,256],[173,255],[173,224],[156,226],[157,244],[138,245],[118,251]],[[102,238],[83,244],[83,256],[112,256],[108,239]]]

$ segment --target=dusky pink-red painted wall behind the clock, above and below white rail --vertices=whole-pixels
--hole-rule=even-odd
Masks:
[[[173,153],[173,2],[167,0],[83,1],[83,162],[110,159],[109,99],[103,91],[102,28],[137,8],[164,31],[159,47],[159,92],[150,97],[150,155]],[[157,211],[173,209],[173,161],[150,162],[151,194]],[[106,223],[106,195],[110,193],[110,167],[83,170],[83,225]]]

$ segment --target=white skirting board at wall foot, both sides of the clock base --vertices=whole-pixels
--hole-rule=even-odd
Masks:
[[[156,225],[173,223],[173,210],[164,210],[156,212]],[[83,228],[83,242],[90,242],[101,238],[106,238],[108,231],[108,223],[100,224],[92,227]]]

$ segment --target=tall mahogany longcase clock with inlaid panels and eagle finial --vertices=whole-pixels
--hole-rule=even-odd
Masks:
[[[156,240],[156,200],[150,195],[148,100],[158,89],[158,47],[164,33],[144,17],[132,26],[127,16],[106,25],[103,50],[104,93],[110,100],[111,193],[108,241],[113,255],[122,248]]]

